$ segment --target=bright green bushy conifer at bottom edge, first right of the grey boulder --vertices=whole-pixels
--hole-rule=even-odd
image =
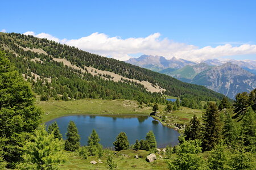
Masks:
[[[175,170],[206,169],[204,159],[198,154],[201,152],[199,141],[184,141],[177,147],[177,158],[168,161],[168,168]]]

